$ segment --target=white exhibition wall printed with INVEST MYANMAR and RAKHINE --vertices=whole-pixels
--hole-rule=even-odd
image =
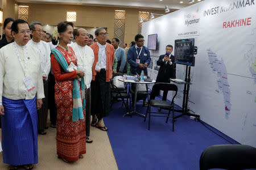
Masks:
[[[237,3],[242,7],[235,7]],[[236,141],[256,147],[254,3],[251,0],[206,0],[143,23],[142,35],[147,44],[147,35],[158,33],[159,50],[151,51],[152,61],[165,53],[167,44],[174,45],[176,39],[195,38],[198,54],[195,67],[191,67],[193,84],[189,109]],[[204,11],[212,8],[210,15],[204,15]],[[221,8],[227,10],[221,11]],[[199,22],[185,24],[186,20],[193,19],[199,19]],[[240,19],[246,19],[246,25],[233,27]],[[223,27],[228,21],[232,27]],[[153,63],[150,71],[152,78],[156,78]],[[177,65],[177,78],[184,79],[184,70],[185,66]],[[182,90],[183,86],[179,86],[176,103],[180,106]],[[168,97],[170,99],[171,95]]]

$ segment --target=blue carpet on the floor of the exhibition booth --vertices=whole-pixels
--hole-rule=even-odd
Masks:
[[[135,114],[132,118],[122,117],[124,108],[121,102],[115,103],[110,116],[104,118],[115,159],[121,170],[199,169],[200,155],[205,148],[230,144],[188,116],[177,118],[174,132],[171,129],[171,118],[166,124],[164,117],[151,117],[149,131],[148,118],[144,122],[144,118]],[[146,108],[138,103],[137,111],[144,114]],[[237,143],[231,138],[229,141]]]

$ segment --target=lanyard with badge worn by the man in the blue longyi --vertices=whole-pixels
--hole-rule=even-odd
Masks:
[[[31,80],[30,76],[28,76],[27,73],[26,73],[27,61],[28,61],[28,59],[30,59],[30,57],[28,57],[28,54],[27,54],[27,47],[25,48],[26,49],[26,56],[25,56],[25,59],[24,59],[24,66],[22,65],[22,61],[20,59],[19,51],[18,51],[18,48],[17,48],[16,44],[14,44],[14,47],[15,47],[16,55],[19,58],[20,66],[22,67],[23,72],[25,74],[25,78],[23,79],[23,82],[26,85],[27,90],[31,91],[31,90],[33,90],[35,88],[35,86],[34,86],[32,80]]]

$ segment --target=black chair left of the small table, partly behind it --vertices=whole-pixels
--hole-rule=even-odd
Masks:
[[[114,104],[115,101],[122,101],[122,106],[125,105],[125,108],[127,112],[130,112],[130,107],[129,107],[129,99],[130,95],[128,94],[126,88],[118,88],[117,86],[114,85],[113,79],[110,80],[110,104],[111,107]],[[118,100],[121,99],[121,100]],[[125,102],[126,99],[126,102]]]

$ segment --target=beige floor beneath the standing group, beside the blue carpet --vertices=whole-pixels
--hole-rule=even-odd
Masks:
[[[63,160],[57,159],[56,129],[47,129],[46,135],[38,135],[39,163],[35,165],[34,169],[118,169],[108,134],[91,126],[90,137],[93,139],[93,143],[86,143],[86,154],[84,158],[79,159],[75,163],[65,163]],[[2,153],[0,154],[0,169],[8,169],[8,165],[3,163]]]

